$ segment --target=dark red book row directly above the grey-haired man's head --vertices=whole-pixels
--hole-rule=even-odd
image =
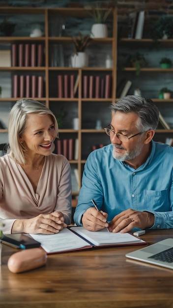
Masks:
[[[112,75],[93,76],[84,75],[82,84],[83,98],[111,98]]]

